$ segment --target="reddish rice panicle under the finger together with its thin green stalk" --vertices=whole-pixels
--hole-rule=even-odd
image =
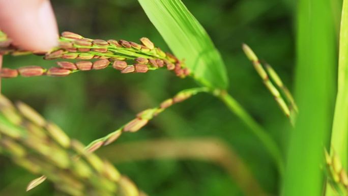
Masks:
[[[45,69],[39,66],[25,66],[16,70],[3,68],[0,72],[0,76],[5,78],[17,77],[18,75],[24,77],[41,75],[67,76],[77,71],[104,69],[112,64],[112,67],[121,70],[121,73],[143,73],[148,70],[156,70],[165,66],[168,70],[173,70],[176,75],[181,78],[190,76],[197,79],[197,71],[192,71],[189,67],[186,67],[186,64],[184,64],[183,61],[180,61],[170,53],[165,53],[159,48],[156,48],[147,38],[141,38],[140,41],[143,45],[136,45],[134,42],[127,42],[125,40],[92,40],[89,38],[83,38],[81,35],[75,33],[63,32],[62,37],[60,38],[60,46],[45,53],[44,59],[83,59],[85,61],[76,63],[66,61],[57,62],[57,65],[60,67],[53,67],[50,69]],[[8,40],[6,40],[6,42],[8,42]],[[2,48],[2,51],[3,54],[12,55],[23,55],[29,53],[42,54],[40,52],[20,51],[13,45],[8,44]],[[91,62],[94,59],[101,60]],[[135,61],[136,63],[134,65],[127,65],[125,60]],[[265,130],[257,125],[242,106],[236,100],[233,100],[225,90],[212,88],[211,85],[206,84],[206,81],[201,81],[200,79],[197,79],[197,81],[201,82],[202,85],[207,85],[205,88],[208,88],[209,92],[222,99],[222,101],[227,104],[228,108],[250,127],[251,131],[262,143],[264,143],[267,151],[276,162],[279,172],[282,173],[283,163],[280,151],[273,139],[265,132]]]

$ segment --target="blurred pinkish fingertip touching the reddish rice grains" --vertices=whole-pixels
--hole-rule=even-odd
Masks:
[[[0,0],[0,29],[22,49],[45,51],[57,45],[49,0]]]

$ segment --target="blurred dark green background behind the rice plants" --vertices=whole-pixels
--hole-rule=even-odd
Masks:
[[[136,0],[51,2],[61,32],[71,31],[93,39],[136,42],[141,37],[148,37],[155,45],[169,51]],[[284,149],[288,136],[287,119],[246,59],[241,44],[249,44],[292,89],[294,3],[279,0],[183,2],[220,50],[228,71],[230,94]],[[35,55],[4,59],[4,67],[25,65],[53,66],[54,62],[43,61]],[[2,91],[12,100],[30,104],[45,118],[60,125],[70,137],[88,144],[133,119],[138,111],[154,107],[182,89],[196,86],[192,79],[180,79],[166,70],[121,74],[105,69],[63,78],[4,79]],[[197,95],[167,109],[139,132],[123,134],[117,144],[197,138],[214,138],[225,143],[270,195],[279,191],[279,175],[262,144],[218,99],[208,94]],[[213,161],[175,158],[118,161],[118,154],[113,151],[123,153],[123,157],[128,152],[118,151],[117,144],[100,151],[99,155],[113,160],[121,173],[149,195],[243,195],[236,183],[238,178]],[[133,149],[131,153],[136,152]],[[0,156],[1,196],[55,195],[49,182],[25,192],[26,184],[35,177]]]

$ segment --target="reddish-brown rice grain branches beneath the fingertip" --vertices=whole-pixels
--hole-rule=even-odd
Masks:
[[[100,70],[106,67],[113,67],[120,70],[121,73],[146,73],[166,67],[182,78],[191,74],[183,61],[179,61],[174,55],[155,47],[148,38],[141,38],[140,42],[141,44],[125,40],[93,40],[71,32],[63,32],[59,39],[60,45],[49,52],[42,53],[17,49],[11,44],[12,41],[7,38],[6,34],[1,32],[0,54],[34,53],[44,55],[45,60],[63,59],[80,60],[80,62],[57,62],[59,67],[49,69],[39,66],[25,66],[19,69],[3,68],[0,71],[0,77],[67,76],[77,71]],[[114,64],[120,64],[120,61],[127,66],[114,66]],[[126,61],[132,63],[128,65]]]

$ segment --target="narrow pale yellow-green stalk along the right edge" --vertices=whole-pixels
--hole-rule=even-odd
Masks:
[[[347,170],[347,136],[348,136],[348,1],[343,1],[341,27],[339,36],[338,87],[334,121],[331,135],[331,154],[341,159],[342,167]],[[328,189],[326,195],[333,195]]]

